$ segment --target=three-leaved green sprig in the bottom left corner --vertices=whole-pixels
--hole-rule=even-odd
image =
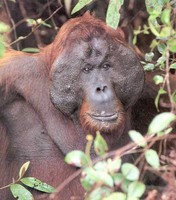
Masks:
[[[24,186],[27,186],[29,188],[33,188],[35,190],[42,191],[45,193],[53,193],[55,191],[55,188],[53,188],[52,186],[46,183],[43,183],[42,181],[34,177],[23,178],[24,174],[29,168],[29,164],[30,162],[28,161],[22,165],[22,167],[20,168],[19,177],[17,180],[13,180],[13,183],[10,183],[9,185],[4,186],[3,188],[0,188],[0,189],[9,187],[12,192],[12,195],[18,200],[26,200],[26,199],[34,200],[32,193],[28,189],[26,189]],[[23,183],[24,186],[20,182]]]

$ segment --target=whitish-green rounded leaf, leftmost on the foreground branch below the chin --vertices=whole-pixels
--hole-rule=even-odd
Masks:
[[[83,167],[88,164],[89,158],[88,156],[79,150],[74,150],[68,153],[65,157],[65,162],[76,166],[76,167]]]

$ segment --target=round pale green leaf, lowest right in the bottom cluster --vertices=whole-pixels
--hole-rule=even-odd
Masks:
[[[128,186],[128,196],[140,198],[145,192],[145,185],[142,182],[134,181]]]

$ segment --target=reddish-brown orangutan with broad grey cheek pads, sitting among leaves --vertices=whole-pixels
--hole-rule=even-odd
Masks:
[[[99,130],[110,150],[126,144],[143,85],[143,69],[121,32],[89,13],[66,22],[38,54],[7,53],[0,60],[0,187],[26,161],[26,176],[58,186],[75,171],[64,156],[84,150],[88,133]],[[75,180],[57,199],[79,195]],[[9,188],[0,199],[13,199]]]

